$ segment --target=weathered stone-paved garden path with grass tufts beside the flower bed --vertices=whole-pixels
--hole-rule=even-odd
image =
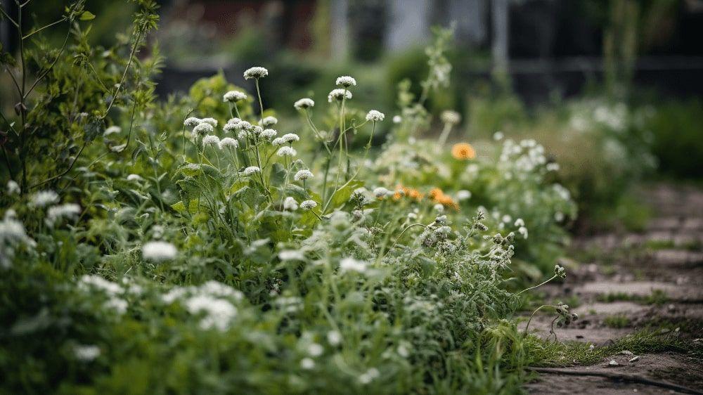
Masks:
[[[571,304],[579,313],[575,323],[555,329],[560,341],[610,345],[612,355],[541,373],[527,385],[530,393],[686,393],[601,375],[703,393],[703,190],[659,185],[643,195],[655,212],[644,232],[575,240],[581,264],[569,269],[565,283],[543,290],[548,302]],[[548,337],[552,319],[536,316],[530,331]]]

